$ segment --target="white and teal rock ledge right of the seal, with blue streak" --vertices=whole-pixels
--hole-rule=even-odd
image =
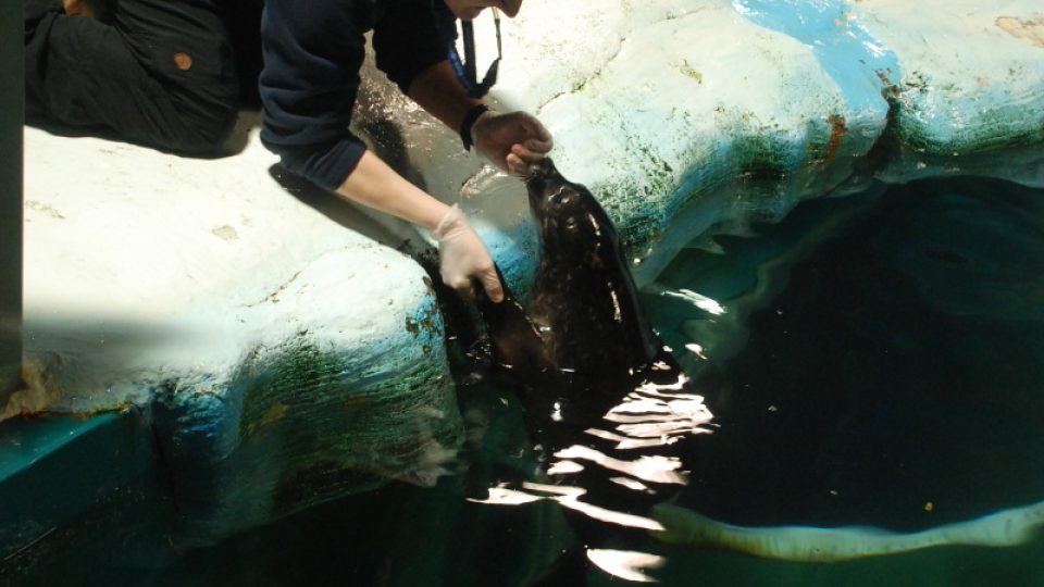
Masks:
[[[530,0],[502,23],[490,97],[550,127],[559,168],[601,199],[647,284],[708,230],[743,232],[870,177],[1044,183],[1042,18],[1032,0]],[[487,60],[489,21],[476,25]],[[452,133],[400,128],[427,146],[413,158],[426,177],[461,161]],[[524,215],[517,182],[452,179],[433,191],[480,217]]]

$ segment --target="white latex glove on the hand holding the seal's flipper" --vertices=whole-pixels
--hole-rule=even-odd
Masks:
[[[438,272],[443,283],[472,297],[472,279],[478,279],[490,300],[500,302],[504,299],[504,287],[497,278],[489,250],[468,224],[460,207],[453,204],[438,222],[435,238],[438,239]]]

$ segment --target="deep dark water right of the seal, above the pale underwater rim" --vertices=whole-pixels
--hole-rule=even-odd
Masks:
[[[698,377],[721,428],[684,502],[741,524],[917,530],[1044,500],[1044,193],[965,178],[855,198],[879,201]]]

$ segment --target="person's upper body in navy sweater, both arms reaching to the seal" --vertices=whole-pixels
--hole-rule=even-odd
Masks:
[[[486,8],[508,16],[521,0],[266,0],[261,18],[264,68],[260,91],[262,142],[288,171],[340,197],[433,232],[443,280],[471,292],[478,280],[494,301],[504,297],[485,243],[459,208],[407,182],[348,130],[373,30],[377,67],[425,111],[455,130],[464,148],[521,174],[551,149],[551,136],[524,112],[487,109],[448,59],[455,18]]]

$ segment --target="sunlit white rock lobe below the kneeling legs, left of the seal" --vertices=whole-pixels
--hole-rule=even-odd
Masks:
[[[461,434],[426,274],[295,198],[249,138],[198,160],[26,130],[42,408],[144,408],[201,538],[432,483]]]

